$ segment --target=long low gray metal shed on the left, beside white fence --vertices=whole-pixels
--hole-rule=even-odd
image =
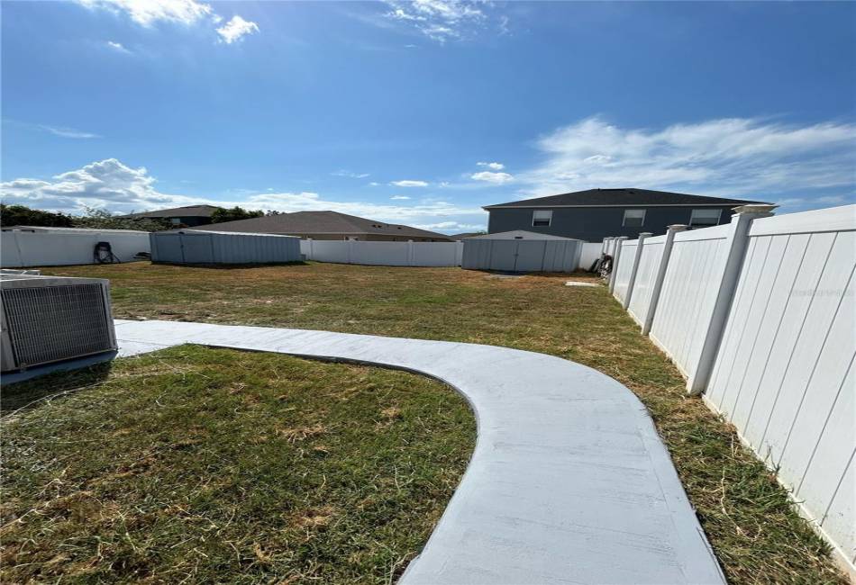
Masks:
[[[300,238],[233,231],[176,229],[149,236],[152,262],[270,264],[300,260]]]

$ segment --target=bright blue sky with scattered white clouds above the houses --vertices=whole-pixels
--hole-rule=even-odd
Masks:
[[[4,202],[445,232],[592,187],[854,201],[856,4],[2,4]]]

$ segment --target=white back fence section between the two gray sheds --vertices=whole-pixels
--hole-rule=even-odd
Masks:
[[[364,242],[303,239],[307,260],[370,266],[460,266],[462,242]]]

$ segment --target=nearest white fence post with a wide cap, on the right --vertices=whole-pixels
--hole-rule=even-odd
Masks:
[[[731,218],[731,233],[725,240],[728,246],[728,256],[725,258],[723,279],[716,293],[714,311],[711,314],[707,329],[703,333],[705,341],[701,354],[698,356],[698,365],[695,374],[687,381],[687,390],[690,394],[700,394],[707,387],[710,374],[714,369],[716,354],[722,342],[725,330],[725,321],[734,293],[737,290],[737,281],[743,266],[743,257],[746,256],[746,248],[749,244],[749,228],[752,220],[769,217],[776,205],[742,205],[735,207],[735,214]]]

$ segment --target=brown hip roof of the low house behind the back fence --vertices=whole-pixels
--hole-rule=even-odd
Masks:
[[[341,235],[372,235],[395,236],[397,238],[433,238],[449,240],[449,236],[438,234],[427,229],[411,228],[397,223],[367,220],[366,218],[348,215],[338,211],[296,211],[294,213],[279,213],[265,215],[250,220],[225,221],[206,226],[197,230],[244,231],[250,233],[268,234],[341,234]]]

